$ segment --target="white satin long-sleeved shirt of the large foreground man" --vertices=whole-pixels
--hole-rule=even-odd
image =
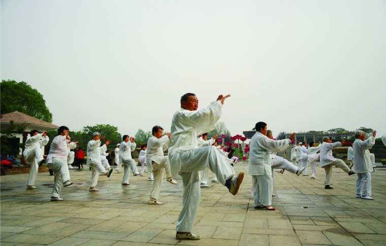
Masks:
[[[220,119],[221,110],[221,102],[214,101],[201,110],[189,111],[181,108],[174,113],[168,155],[173,177],[181,170],[180,152],[196,148],[197,135],[214,129]]]

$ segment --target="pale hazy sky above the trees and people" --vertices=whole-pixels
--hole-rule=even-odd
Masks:
[[[53,123],[170,129],[185,92],[230,93],[232,134],[386,133],[386,1],[1,1],[1,79]]]

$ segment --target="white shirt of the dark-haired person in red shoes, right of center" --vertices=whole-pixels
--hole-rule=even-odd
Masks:
[[[249,145],[249,175],[272,175],[271,152],[280,152],[288,148],[291,140],[273,140],[260,131],[252,136]]]

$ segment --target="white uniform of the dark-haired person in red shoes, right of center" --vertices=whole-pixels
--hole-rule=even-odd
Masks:
[[[284,151],[291,140],[273,140],[257,131],[250,140],[248,174],[252,175],[254,206],[272,204],[271,152]]]

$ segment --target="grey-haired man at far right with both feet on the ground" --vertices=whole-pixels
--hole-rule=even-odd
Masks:
[[[366,200],[374,200],[371,197],[371,173],[373,172],[373,162],[370,157],[369,149],[375,144],[375,136],[377,132],[373,131],[373,135],[366,139],[364,131],[357,130],[355,132],[355,141],[352,143],[352,153],[354,159],[353,170],[358,174],[356,183],[357,198]],[[365,140],[366,139],[366,140]]]

